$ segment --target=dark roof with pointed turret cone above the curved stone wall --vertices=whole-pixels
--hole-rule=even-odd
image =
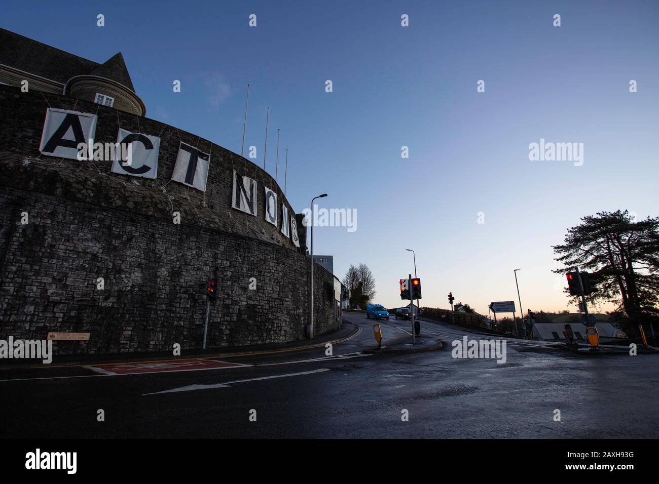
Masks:
[[[73,76],[100,76],[119,82],[135,92],[121,52],[99,64],[0,28],[0,64],[62,84]]]

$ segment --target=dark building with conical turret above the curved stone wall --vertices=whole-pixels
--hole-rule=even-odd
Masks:
[[[121,52],[99,64],[0,28],[0,84],[22,87],[24,81],[30,92],[51,92],[146,115]]]

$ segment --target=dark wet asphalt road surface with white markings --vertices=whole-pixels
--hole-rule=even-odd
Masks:
[[[156,372],[123,375],[109,366],[2,370],[0,408],[11,418],[0,437],[659,437],[659,356],[588,357],[508,340],[503,364],[457,359],[453,340],[483,336],[426,321],[422,333],[442,350],[372,355],[362,350],[374,346],[373,321],[345,319],[363,331],[331,357],[316,348],[204,371],[140,363],[131,371]],[[379,322],[385,342],[410,326]]]

